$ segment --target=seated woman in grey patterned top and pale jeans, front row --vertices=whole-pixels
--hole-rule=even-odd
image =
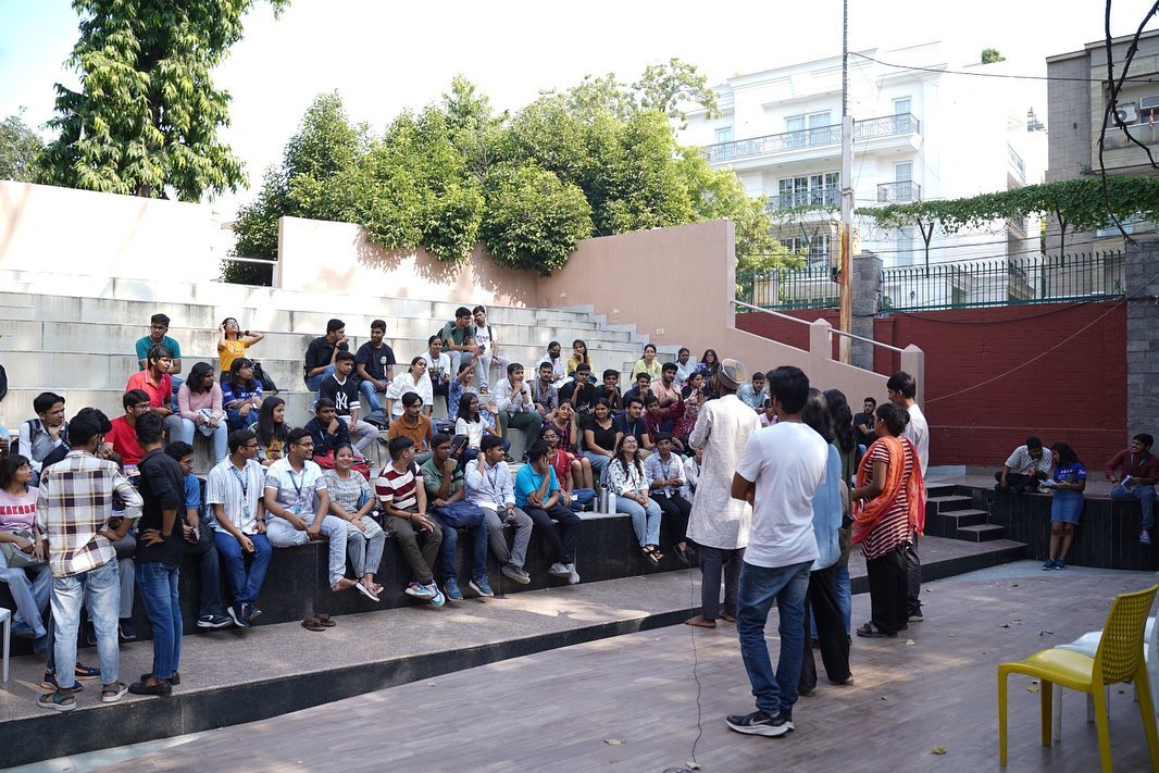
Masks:
[[[374,490],[359,473],[353,472],[355,449],[349,443],[340,443],[334,450],[334,469],[322,473],[326,490],[330,494],[330,515],[350,523],[347,526],[347,554],[350,566],[358,576],[355,590],[378,603],[382,586],[374,582],[386,533],[371,517],[374,510]]]

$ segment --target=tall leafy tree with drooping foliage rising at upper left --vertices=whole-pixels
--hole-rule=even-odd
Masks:
[[[289,0],[269,0],[280,12]],[[59,136],[41,181],[144,197],[199,200],[245,183],[218,139],[229,95],[210,73],[241,39],[254,0],[73,0],[80,39],[68,64],[81,90],[57,83]]]

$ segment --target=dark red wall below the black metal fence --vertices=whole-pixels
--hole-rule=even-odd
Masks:
[[[837,321],[833,309],[794,316]],[[768,314],[738,314],[737,327],[808,347],[806,326]],[[1065,440],[1088,468],[1100,469],[1127,446],[1131,431],[1140,431],[1127,426],[1124,305],[897,313],[874,321],[874,338],[926,352],[931,464],[997,468],[1037,435],[1048,445]],[[875,371],[897,367],[896,355],[876,349]],[[847,396],[858,406],[866,395]]]

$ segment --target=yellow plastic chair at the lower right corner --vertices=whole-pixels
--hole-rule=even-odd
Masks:
[[[1099,761],[1105,773],[1110,773],[1110,728],[1107,715],[1106,685],[1135,681],[1139,695],[1143,731],[1151,753],[1151,770],[1159,773],[1159,732],[1156,729],[1151,685],[1143,661],[1143,629],[1159,585],[1135,593],[1115,597],[1102,639],[1094,657],[1071,650],[1051,648],[1035,652],[1015,663],[998,664],[998,758],[1006,765],[1006,681],[1011,673],[1037,677],[1041,683],[1038,698],[1042,712],[1042,745],[1051,743],[1051,693],[1057,683],[1062,687],[1079,690],[1094,702],[1095,727],[1099,731]]]

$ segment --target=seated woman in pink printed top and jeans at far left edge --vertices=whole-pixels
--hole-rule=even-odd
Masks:
[[[0,459],[0,583],[8,585],[16,605],[12,635],[32,640],[32,651],[49,648],[44,611],[52,591],[52,570],[48,545],[36,527],[36,498],[32,465],[19,453]]]

